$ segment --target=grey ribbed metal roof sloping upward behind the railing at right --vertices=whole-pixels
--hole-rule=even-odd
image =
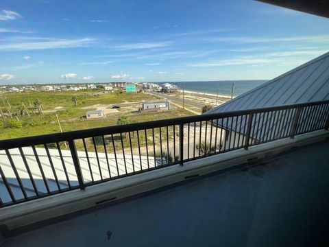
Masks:
[[[284,73],[269,82],[231,99],[230,101],[208,110],[207,113],[224,113],[234,110],[247,110],[253,108],[266,108],[270,106],[284,106],[289,104],[302,104],[307,102],[317,102],[321,100],[329,100],[329,52],[302,64],[287,73]],[[302,116],[307,119],[313,114],[310,110],[308,114]],[[284,117],[285,113],[280,113],[276,119],[270,117],[266,121],[273,122],[273,128]],[[252,128],[254,131],[254,139],[262,139],[271,129],[263,130],[258,127],[260,123],[265,121],[265,115],[261,114],[255,119]],[[241,123],[242,120],[242,123]],[[287,128],[291,125],[291,121],[287,121]],[[255,127],[254,127],[255,126]],[[223,121],[223,127],[230,130],[236,130],[241,134],[245,134],[245,117],[238,121]],[[259,128],[259,129],[258,129]],[[258,135],[262,133],[261,135]],[[280,134],[280,133],[278,133]]]

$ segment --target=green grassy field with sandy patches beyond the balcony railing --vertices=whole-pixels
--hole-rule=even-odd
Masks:
[[[72,96],[77,96],[77,106],[74,106]],[[137,110],[141,104],[133,104],[132,106],[121,107],[117,112],[109,113],[103,119],[86,119],[86,108],[93,108],[95,104],[104,104],[112,106],[124,102],[141,102],[143,100],[157,99],[153,95],[144,93],[102,93],[95,91],[85,91],[80,93],[72,92],[32,92],[32,93],[3,93],[3,100],[0,99],[0,109],[3,113],[8,113],[9,105],[12,113],[17,113],[19,121],[13,117],[7,117],[5,121],[0,120],[0,139],[12,139],[17,137],[27,137],[37,134],[50,134],[60,132],[56,120],[56,114],[60,119],[60,124],[63,131],[82,130],[89,128],[97,128],[103,126],[117,125],[117,120],[125,115],[130,120],[137,122],[152,121],[158,119],[169,119],[174,117],[184,117],[193,115],[180,108],[174,110],[164,110],[155,113],[132,113],[132,110]],[[34,108],[34,100],[39,99],[42,104],[42,109],[45,111],[43,115],[39,115]],[[3,102],[4,101],[4,102]],[[30,117],[25,113],[21,115],[22,102],[29,111]],[[31,106],[29,105],[31,102]],[[54,110],[59,106],[63,107],[60,110]],[[47,112],[47,110],[49,110]],[[51,110],[51,111],[50,111]],[[24,112],[24,111],[23,111]],[[148,135],[150,130],[148,130]],[[158,134],[159,130],[155,130]],[[136,138],[133,139],[133,146],[136,146]],[[145,142],[145,138],[141,137],[141,142]],[[97,143],[99,144],[99,143]],[[87,140],[88,148],[93,145],[90,140]],[[127,145],[127,143],[125,143]],[[82,143],[77,143],[77,148],[81,149]]]

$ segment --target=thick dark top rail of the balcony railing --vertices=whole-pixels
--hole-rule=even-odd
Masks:
[[[204,115],[195,115],[189,117],[178,117],[174,119],[163,119],[156,121],[147,121],[136,124],[127,124],[122,126],[108,126],[101,128],[92,128],[86,130],[73,130],[69,132],[54,133],[54,134],[43,134],[32,137],[21,137],[15,139],[6,139],[0,141],[0,150],[26,147],[32,145],[40,145],[45,143],[56,143],[60,141],[70,141],[75,139],[82,139],[88,137],[98,137],[107,134],[117,134],[121,132],[129,132],[136,130],[145,130],[149,128],[159,128],[164,126],[173,126],[179,124],[188,124],[199,121],[209,121],[212,119],[221,119],[226,117],[235,117],[241,115],[249,115],[253,113],[267,113],[273,110],[285,110],[289,108],[298,108],[306,106],[315,106],[321,104],[328,104],[329,100],[318,101],[318,102],[308,102],[304,104],[289,104],[284,106],[271,106],[267,108],[254,108],[249,110],[236,110],[226,113],[210,113]]]

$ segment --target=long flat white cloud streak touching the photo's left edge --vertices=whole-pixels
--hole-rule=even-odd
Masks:
[[[76,48],[88,47],[95,39],[80,38],[80,39],[59,39],[59,38],[23,38],[25,40],[34,40],[32,42],[12,42],[1,44],[0,51],[29,51],[39,49],[59,49],[59,48]],[[15,39],[16,40],[16,39]]]

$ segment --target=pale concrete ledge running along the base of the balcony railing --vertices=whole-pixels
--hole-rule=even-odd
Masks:
[[[252,158],[264,158],[269,152],[279,154],[293,147],[308,145],[329,137],[328,130],[319,130],[295,137],[252,146],[249,150],[234,150],[224,154],[208,156],[173,165],[144,174],[137,174],[99,185],[87,187],[85,191],[74,190],[58,195],[40,198],[0,209],[0,225],[9,230],[26,226],[60,215],[73,213],[95,206],[99,202],[118,200],[138,193],[151,191],[165,185],[181,182],[188,176],[202,176],[221,169],[245,163]]]

